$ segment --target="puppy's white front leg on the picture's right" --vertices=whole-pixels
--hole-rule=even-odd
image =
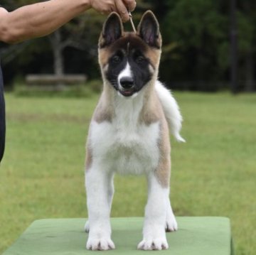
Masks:
[[[145,210],[143,240],[138,249],[168,249],[166,240],[166,207],[169,188],[162,187],[154,174],[148,177],[149,195]]]

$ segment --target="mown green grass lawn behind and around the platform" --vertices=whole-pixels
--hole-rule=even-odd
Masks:
[[[171,138],[174,212],[230,217],[236,254],[256,254],[256,94],[174,94],[187,140]],[[0,253],[34,219],[87,216],[85,139],[96,102],[6,94]],[[112,216],[142,216],[144,178],[117,176],[115,187]]]

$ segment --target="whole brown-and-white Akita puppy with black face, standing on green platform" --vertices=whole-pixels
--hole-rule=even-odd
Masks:
[[[184,141],[179,135],[182,117],[174,97],[157,80],[160,55],[159,23],[151,11],[142,16],[137,33],[124,32],[119,15],[110,14],[99,41],[103,91],[87,139],[87,249],[114,249],[114,173],[144,174],[148,180],[138,249],[167,249],[165,231],[177,230],[169,200],[169,128]]]

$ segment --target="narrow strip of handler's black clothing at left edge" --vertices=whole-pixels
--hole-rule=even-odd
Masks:
[[[1,66],[0,66],[0,162],[4,156],[5,132],[6,132],[6,122],[5,122],[5,103],[4,103],[4,82],[3,82],[3,75],[1,72]]]

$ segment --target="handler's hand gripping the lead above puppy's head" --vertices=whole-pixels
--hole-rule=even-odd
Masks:
[[[129,21],[129,11],[133,11],[136,7],[135,0],[90,0],[93,9],[102,14],[109,14],[112,11],[119,13],[122,21]]]

